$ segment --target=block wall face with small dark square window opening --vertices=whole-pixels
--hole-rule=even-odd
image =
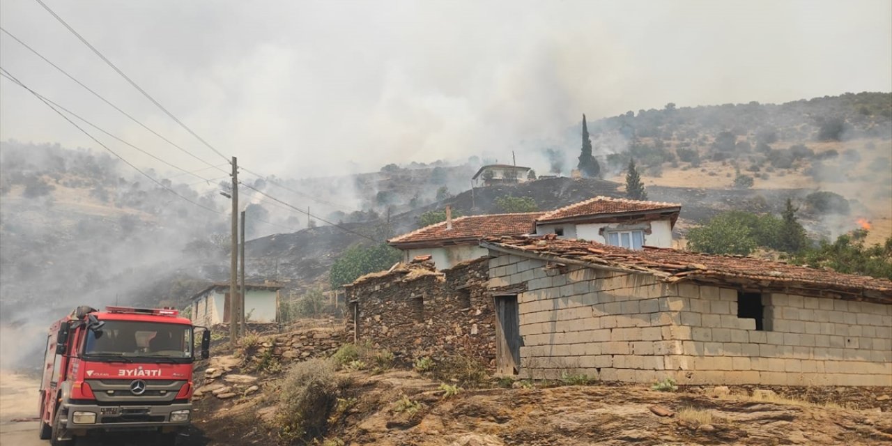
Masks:
[[[764,330],[738,318],[735,289],[679,284],[683,384],[892,385],[892,305],[765,293]]]

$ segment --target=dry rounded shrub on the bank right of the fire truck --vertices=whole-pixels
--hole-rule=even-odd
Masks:
[[[343,384],[330,359],[294,364],[279,392],[279,435],[290,442],[309,442],[325,434],[328,416]]]

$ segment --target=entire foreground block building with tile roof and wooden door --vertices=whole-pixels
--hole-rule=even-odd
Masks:
[[[732,257],[491,237],[496,370],[892,385],[892,282]]]

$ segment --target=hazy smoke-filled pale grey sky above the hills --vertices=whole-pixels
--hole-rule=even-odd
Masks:
[[[348,162],[507,161],[583,112],[892,90],[888,0],[45,2],[222,153],[285,177]],[[147,126],[224,162],[34,0],[4,0],[0,24]],[[131,143],[205,167],[6,35],[0,65]],[[20,87],[0,87],[0,139],[98,149]]]

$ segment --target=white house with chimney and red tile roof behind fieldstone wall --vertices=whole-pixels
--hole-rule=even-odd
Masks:
[[[545,212],[472,215],[422,227],[387,242],[403,252],[403,262],[419,256],[431,256],[440,269],[452,268],[467,260],[480,259],[489,252],[480,240],[491,235],[524,235],[535,232],[535,221]]]

